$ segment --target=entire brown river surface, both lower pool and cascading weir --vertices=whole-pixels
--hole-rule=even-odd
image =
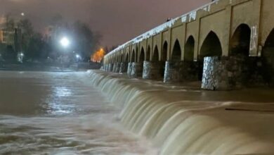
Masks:
[[[274,154],[273,89],[196,86],[0,72],[0,154]]]

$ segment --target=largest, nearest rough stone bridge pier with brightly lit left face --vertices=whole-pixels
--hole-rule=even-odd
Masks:
[[[202,89],[231,90],[240,89],[247,82],[247,58],[241,56],[210,56],[204,58]]]

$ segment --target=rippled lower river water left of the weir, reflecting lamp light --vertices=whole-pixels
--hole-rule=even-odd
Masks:
[[[86,73],[0,72],[0,154],[157,154]]]

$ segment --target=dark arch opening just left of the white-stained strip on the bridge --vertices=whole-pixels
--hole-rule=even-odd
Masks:
[[[230,39],[230,56],[249,56],[251,29],[247,24],[240,24]]]

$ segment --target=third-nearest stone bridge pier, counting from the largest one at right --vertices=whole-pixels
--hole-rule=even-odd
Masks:
[[[143,63],[143,79],[159,79],[162,77],[164,68],[163,62],[144,61]]]

